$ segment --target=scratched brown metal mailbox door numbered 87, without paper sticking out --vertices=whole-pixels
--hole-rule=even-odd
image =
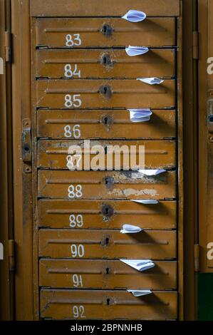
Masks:
[[[49,168],[53,170],[61,170],[66,169],[68,170],[67,163],[68,163],[68,155],[71,153],[69,148],[71,146],[77,145],[82,153],[81,159],[79,164],[83,165],[85,168],[85,158],[88,156],[88,148],[85,148],[85,143],[82,140],[38,140],[38,168]],[[120,154],[120,163],[115,161],[115,157],[113,158],[113,168],[118,167],[121,165],[122,169],[130,170],[130,168],[137,168],[139,164],[139,156],[144,147],[145,150],[145,168],[147,169],[160,169],[160,168],[175,168],[175,141],[172,140],[162,140],[162,141],[155,141],[155,140],[147,140],[147,141],[125,141],[123,140],[122,143],[120,141],[103,141],[103,140],[91,140],[90,141],[90,148],[95,145],[104,148],[107,148],[108,155],[105,155],[105,162],[99,162],[98,165],[100,166],[101,170],[106,170],[107,163],[109,160],[109,152],[110,146],[113,148],[113,145],[117,145],[118,148],[115,148],[115,156],[120,153],[120,149],[123,147],[124,152]],[[136,150],[136,162],[132,163],[133,166],[130,167],[130,160],[125,160],[126,155],[129,155],[131,146],[135,146]],[[88,158],[89,162],[97,155],[97,148],[91,149],[93,152],[90,154],[90,158]],[[98,149],[100,150],[100,149]],[[113,156],[113,155],[112,155]],[[117,160],[117,158],[116,158]],[[130,167],[130,168],[129,168]],[[117,169],[118,169],[117,168]],[[137,169],[138,170],[138,169]]]

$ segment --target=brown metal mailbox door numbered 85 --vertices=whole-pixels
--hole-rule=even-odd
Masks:
[[[136,79],[39,79],[38,108],[174,108],[175,79],[149,85]]]

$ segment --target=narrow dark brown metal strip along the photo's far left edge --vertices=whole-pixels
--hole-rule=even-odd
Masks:
[[[0,1],[0,56],[3,64],[0,74],[0,243],[3,258],[0,259],[0,320],[14,319],[14,264],[11,244],[14,242],[13,190],[12,190],[12,136],[11,136],[11,41],[10,1]]]

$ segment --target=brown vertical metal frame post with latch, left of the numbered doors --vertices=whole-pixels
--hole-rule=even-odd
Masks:
[[[33,215],[31,165],[22,162],[21,131],[31,118],[31,46],[29,1],[11,1],[13,33],[14,237],[16,242],[16,320],[32,320]]]

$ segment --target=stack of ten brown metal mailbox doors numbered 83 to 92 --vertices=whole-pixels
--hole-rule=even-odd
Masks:
[[[42,319],[177,319],[176,29],[172,17],[33,21]],[[130,57],[128,45],[149,51]],[[154,76],[163,82],[137,81]],[[150,121],[132,123],[128,108],[142,107]],[[83,139],[135,145],[137,156],[145,146],[145,168],[165,172],[105,171],[107,151],[103,171],[69,171],[68,148]],[[143,230],[121,234],[125,223]]]

